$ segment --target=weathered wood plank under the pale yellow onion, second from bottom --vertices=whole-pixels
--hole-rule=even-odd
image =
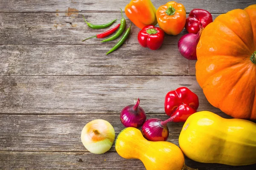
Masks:
[[[225,116],[224,113],[221,114]],[[147,118],[169,118],[148,114]],[[81,130],[94,119],[104,119],[114,127],[116,136],[125,128],[115,115],[0,115],[0,150],[88,152],[81,143]],[[178,145],[183,123],[169,123],[168,141]],[[22,147],[20,147],[22,146]],[[109,152],[115,152],[112,146]]]

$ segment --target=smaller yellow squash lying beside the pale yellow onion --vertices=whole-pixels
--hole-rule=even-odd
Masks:
[[[170,142],[146,140],[140,130],[127,127],[116,138],[116,152],[125,159],[140,159],[147,170],[181,170],[184,155]]]

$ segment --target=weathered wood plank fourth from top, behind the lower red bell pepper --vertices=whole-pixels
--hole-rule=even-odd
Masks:
[[[168,91],[186,86],[209,104],[194,76],[0,76],[0,113],[119,113],[141,99],[146,113],[164,113]]]

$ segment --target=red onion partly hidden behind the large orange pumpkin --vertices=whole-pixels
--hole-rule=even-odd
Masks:
[[[179,42],[178,42],[178,48],[180,54],[185,57],[186,59],[195,60],[196,57],[196,46],[198,45],[202,28],[200,28],[200,31],[197,34],[189,33],[186,35],[183,35]]]

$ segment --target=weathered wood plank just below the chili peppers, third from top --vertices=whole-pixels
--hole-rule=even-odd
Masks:
[[[0,45],[0,75],[195,75],[177,45]]]

